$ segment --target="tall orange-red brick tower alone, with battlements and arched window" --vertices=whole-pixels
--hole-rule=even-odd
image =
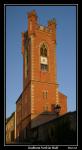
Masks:
[[[52,106],[58,103],[56,21],[48,21],[48,27],[40,26],[36,12],[30,12],[28,32],[22,33],[22,41],[23,88],[30,82],[30,111],[33,115],[44,111],[51,112]]]

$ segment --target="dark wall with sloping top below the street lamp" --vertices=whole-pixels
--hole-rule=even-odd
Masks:
[[[76,112],[69,112],[33,128],[31,133],[33,144],[76,145],[76,117]]]

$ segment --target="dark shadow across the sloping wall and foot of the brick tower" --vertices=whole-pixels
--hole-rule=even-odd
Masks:
[[[51,115],[51,116],[49,116]],[[48,118],[51,118],[51,120]],[[41,118],[47,122],[41,124]],[[69,112],[63,116],[54,116],[43,112],[30,122],[38,122],[32,128],[28,126],[21,131],[17,142],[19,144],[44,144],[44,145],[77,145],[76,112]],[[40,123],[40,124],[39,124]]]

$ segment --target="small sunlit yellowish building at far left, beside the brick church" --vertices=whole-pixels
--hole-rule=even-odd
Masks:
[[[15,143],[16,140],[16,112],[6,120],[6,144]]]

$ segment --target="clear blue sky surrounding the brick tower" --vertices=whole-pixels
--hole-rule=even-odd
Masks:
[[[76,110],[76,7],[6,6],[6,117],[16,110],[16,100],[23,90],[21,33],[28,28],[27,13],[35,10],[38,23],[47,26],[55,18],[57,81],[59,91],[67,96],[67,111]]]

